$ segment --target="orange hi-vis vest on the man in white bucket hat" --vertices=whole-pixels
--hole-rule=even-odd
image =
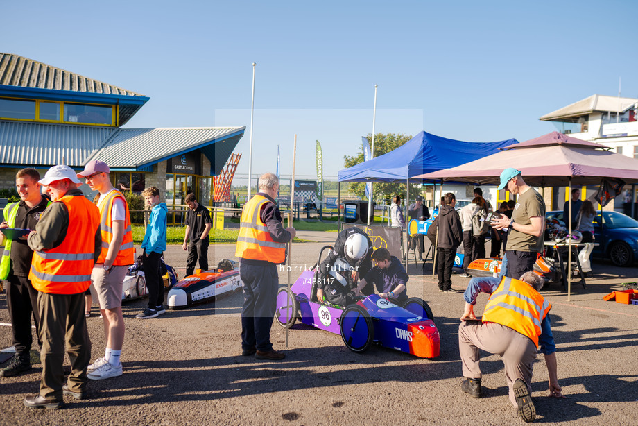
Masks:
[[[91,285],[100,212],[85,196],[67,195],[56,203],[69,210],[67,236],[60,246],[33,252],[29,280],[42,293],[83,293]]]

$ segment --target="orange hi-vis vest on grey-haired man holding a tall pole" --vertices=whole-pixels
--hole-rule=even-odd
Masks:
[[[273,241],[266,223],[259,217],[261,207],[266,203],[272,201],[256,195],[243,205],[235,256],[282,264],[286,262],[286,244]]]

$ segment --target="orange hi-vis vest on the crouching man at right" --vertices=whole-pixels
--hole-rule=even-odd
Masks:
[[[497,323],[529,337],[538,348],[540,323],[551,304],[526,282],[503,277],[483,311],[483,322]]]

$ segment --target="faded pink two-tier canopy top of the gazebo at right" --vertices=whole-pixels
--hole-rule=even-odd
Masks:
[[[606,151],[607,146],[552,132],[451,169],[411,179],[499,184],[501,171],[519,169],[526,183],[538,187],[596,185],[601,178],[638,183],[638,160]]]

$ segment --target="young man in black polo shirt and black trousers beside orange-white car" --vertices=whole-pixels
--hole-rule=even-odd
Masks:
[[[195,264],[198,259],[200,269],[208,271],[208,246],[210,244],[208,233],[211,221],[210,212],[197,202],[195,194],[186,196],[186,205],[189,206],[189,210],[186,212],[186,232],[184,232],[182,248],[189,252],[186,260],[186,275],[188,276],[195,272]]]

